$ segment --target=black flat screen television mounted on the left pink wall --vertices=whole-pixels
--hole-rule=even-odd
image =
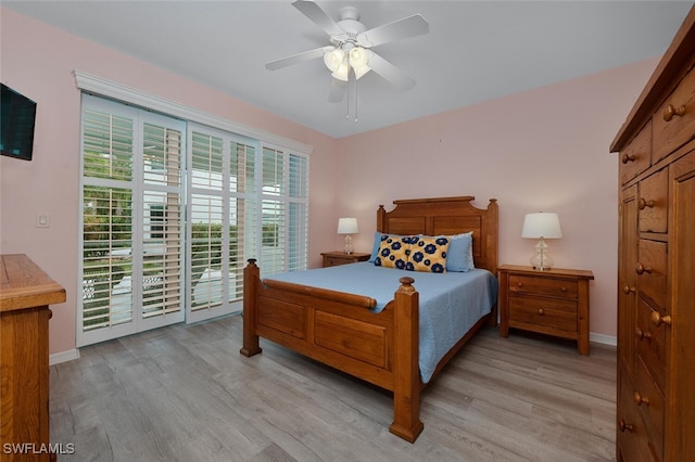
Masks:
[[[36,103],[7,85],[0,85],[0,154],[31,161]]]

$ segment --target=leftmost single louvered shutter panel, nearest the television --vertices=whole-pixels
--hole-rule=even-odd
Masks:
[[[83,115],[81,331],[132,321],[132,152],[135,121],[87,108]]]

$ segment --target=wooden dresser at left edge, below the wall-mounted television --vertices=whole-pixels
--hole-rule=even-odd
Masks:
[[[48,450],[48,306],[63,301],[65,290],[26,255],[0,256],[2,461],[54,459]]]

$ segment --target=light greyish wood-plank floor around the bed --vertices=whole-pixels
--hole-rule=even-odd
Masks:
[[[616,349],[496,329],[426,388],[425,431],[388,431],[388,393],[262,341],[239,316],[80,349],[51,367],[61,461],[612,461]]]

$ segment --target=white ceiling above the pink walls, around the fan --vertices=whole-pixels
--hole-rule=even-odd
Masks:
[[[661,55],[693,2],[327,1],[355,5],[367,28],[419,13],[430,33],[374,51],[417,80],[396,91],[369,73],[358,121],[329,103],[321,60],[265,63],[328,44],[286,1],[11,1],[2,5],[223,93],[342,138]],[[109,77],[109,76],[102,76]]]

